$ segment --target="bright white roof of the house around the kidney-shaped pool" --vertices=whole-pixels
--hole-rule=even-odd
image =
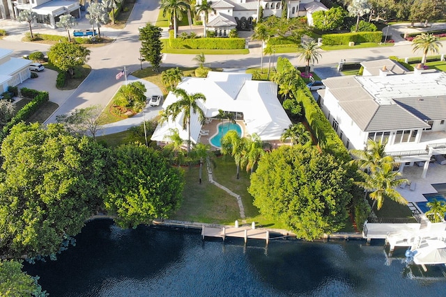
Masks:
[[[206,118],[211,119],[219,110],[237,113],[243,120],[246,134],[257,134],[262,141],[279,141],[284,129],[291,125],[291,120],[277,99],[277,84],[271,81],[252,81],[251,74],[231,72],[209,72],[206,78],[184,77],[177,88],[188,94],[202,93],[206,102],[199,101]],[[162,108],[176,102],[178,97],[169,93]],[[158,124],[152,140],[169,142],[171,129],[178,129],[180,138],[187,139],[187,129],[183,129],[181,113],[176,120]],[[198,143],[202,124],[197,114],[192,113],[190,136],[192,143]]]

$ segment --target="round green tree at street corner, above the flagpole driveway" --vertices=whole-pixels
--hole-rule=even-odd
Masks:
[[[84,65],[89,61],[90,50],[70,42],[56,43],[49,48],[48,59],[62,71],[74,74],[74,67]]]

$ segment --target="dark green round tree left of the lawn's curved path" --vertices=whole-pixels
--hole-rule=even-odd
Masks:
[[[160,152],[144,145],[121,145],[112,153],[105,207],[121,227],[168,218],[182,200],[182,173]]]

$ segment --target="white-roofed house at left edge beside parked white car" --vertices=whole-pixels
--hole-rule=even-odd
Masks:
[[[0,49],[0,94],[8,90],[8,86],[17,86],[31,77],[29,65],[31,60],[12,58],[13,51]]]

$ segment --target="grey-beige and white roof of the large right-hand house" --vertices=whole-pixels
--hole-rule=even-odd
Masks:
[[[443,72],[335,77],[324,83],[362,131],[426,128],[426,120],[446,118]]]

